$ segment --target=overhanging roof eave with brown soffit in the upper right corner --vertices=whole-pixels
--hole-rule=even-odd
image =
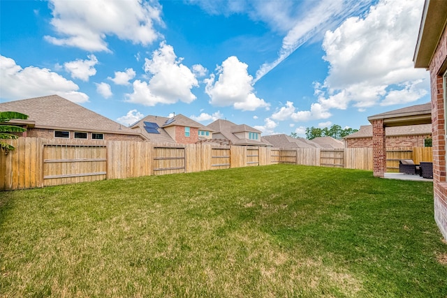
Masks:
[[[413,55],[415,68],[428,68],[447,24],[447,1],[425,0],[418,41]]]

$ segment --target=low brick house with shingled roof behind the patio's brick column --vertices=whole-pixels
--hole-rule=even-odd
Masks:
[[[432,137],[432,125],[392,126],[386,128],[386,147],[424,147],[424,140]],[[372,148],[372,126],[360,126],[360,130],[344,137],[346,148]]]

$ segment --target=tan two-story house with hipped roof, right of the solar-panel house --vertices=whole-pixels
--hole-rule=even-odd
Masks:
[[[265,142],[261,137],[261,131],[252,128],[248,125],[237,125],[228,120],[219,119],[207,127],[214,131],[212,139],[219,141],[220,144],[227,142],[227,144],[237,146],[271,146]]]

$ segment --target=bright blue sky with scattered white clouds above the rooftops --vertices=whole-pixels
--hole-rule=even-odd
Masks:
[[[360,128],[430,101],[423,0],[0,1],[0,102],[58,94],[124,125]]]

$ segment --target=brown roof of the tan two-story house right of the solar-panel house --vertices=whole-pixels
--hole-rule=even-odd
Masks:
[[[208,128],[211,128],[214,133],[220,133],[227,140],[230,140],[231,144],[240,145],[240,146],[270,146],[268,142],[263,140],[261,137],[259,140],[249,140],[247,138],[240,138],[235,135],[235,133],[241,132],[252,132],[252,133],[261,133],[256,128],[252,128],[251,126],[242,124],[236,125],[231,121],[218,119],[211,124],[207,125]],[[213,133],[213,137],[214,137]]]

